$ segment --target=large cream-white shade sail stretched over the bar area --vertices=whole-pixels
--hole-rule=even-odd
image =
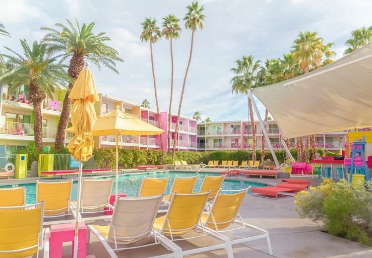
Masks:
[[[252,92],[277,122],[283,138],[372,127],[372,45]]]

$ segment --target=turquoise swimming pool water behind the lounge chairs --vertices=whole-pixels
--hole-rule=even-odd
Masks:
[[[207,173],[198,173],[199,177],[196,181],[196,185],[194,187],[194,192],[199,191],[201,183],[202,183],[206,174]],[[167,185],[167,189],[166,189],[166,194],[169,194],[176,175],[178,175],[178,176],[195,176],[195,173],[194,172],[156,172],[156,173],[155,172],[149,172],[149,173],[145,173],[145,174],[143,174],[143,173],[141,173],[141,174],[125,174],[125,175],[119,176],[118,192],[123,191],[122,186],[123,186],[124,179],[130,179],[132,181],[132,184],[133,184],[132,188],[126,193],[126,195],[127,196],[136,196],[137,188],[138,188],[138,186],[140,186],[140,182],[141,182],[143,176],[146,176],[146,177],[167,177],[167,176],[169,176],[169,181],[168,181],[168,185]],[[209,175],[213,176],[214,173],[209,174]],[[216,173],[215,175],[217,176],[219,174]],[[112,177],[115,177],[115,175],[113,175]],[[128,181],[125,181],[124,189],[128,189],[129,184],[130,183]],[[229,178],[226,178],[225,181],[222,184],[222,189],[224,189],[224,190],[238,190],[238,189],[247,188],[249,185],[251,187],[266,186],[265,184],[253,183],[253,182],[247,182],[247,181],[229,180]],[[19,184],[17,186],[25,186],[26,187],[26,203],[35,203],[36,183]],[[12,186],[9,185],[9,186],[5,186],[5,187],[12,187]],[[114,186],[113,186],[113,193],[115,193],[115,181],[114,181]],[[76,198],[77,198],[77,182],[74,182],[73,186],[72,186],[71,199],[76,200]]]

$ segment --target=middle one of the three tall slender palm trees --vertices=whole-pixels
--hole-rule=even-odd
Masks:
[[[169,115],[168,115],[168,128],[171,128],[171,112],[172,112],[172,97],[173,97],[173,46],[172,46],[172,40],[178,40],[180,39],[180,32],[181,27],[178,23],[180,19],[176,18],[176,16],[172,14],[168,14],[168,16],[165,16],[163,18],[163,30],[162,34],[165,37],[166,40],[169,40],[170,46],[171,46],[171,97],[169,100]],[[168,130],[167,134],[167,154],[169,155],[170,149],[171,149],[171,130]]]

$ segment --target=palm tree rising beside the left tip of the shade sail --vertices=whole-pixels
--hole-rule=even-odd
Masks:
[[[248,94],[248,90],[256,87],[257,82],[259,81],[257,73],[261,68],[260,60],[254,62],[253,56],[243,56],[242,59],[235,61],[236,67],[231,68],[235,76],[231,79],[230,83],[232,84],[231,92],[235,94]],[[258,85],[257,85],[258,86]],[[254,126],[254,117],[253,117],[253,108],[252,100],[248,99],[248,108],[249,108],[249,117],[250,117],[250,126],[252,129],[252,160],[256,160],[256,129]]]

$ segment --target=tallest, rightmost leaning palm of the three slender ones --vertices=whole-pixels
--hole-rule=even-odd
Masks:
[[[172,150],[172,160],[175,159],[175,154],[176,154],[176,140],[178,138],[177,135],[178,135],[180,115],[181,115],[182,99],[184,97],[186,78],[187,78],[188,68],[190,67],[190,62],[191,62],[191,57],[192,57],[194,33],[198,27],[200,30],[203,29],[202,21],[204,21],[205,19],[205,15],[202,14],[202,11],[204,10],[204,6],[202,5],[199,8],[197,1],[192,1],[190,5],[186,6],[186,8],[187,8],[187,13],[185,15],[184,21],[185,21],[185,28],[188,30],[191,30],[191,46],[190,46],[190,56],[188,58],[187,68],[185,72],[184,84],[182,86],[180,105],[178,107],[177,123],[176,123],[176,129],[175,129],[175,141],[173,142],[173,150]]]

